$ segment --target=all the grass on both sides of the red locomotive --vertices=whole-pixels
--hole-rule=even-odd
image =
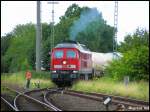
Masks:
[[[32,71],[30,88],[37,88],[35,83],[40,81],[40,88],[56,87],[50,80],[50,74],[46,72]],[[25,72],[1,74],[1,84],[9,83],[25,87]],[[110,78],[103,77],[89,81],[79,81],[71,88],[78,91],[97,92],[124,96],[139,100],[149,101],[149,83],[148,82],[130,82],[125,86],[123,82],[113,81]]]

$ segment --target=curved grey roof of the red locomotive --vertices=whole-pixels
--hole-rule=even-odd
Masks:
[[[79,44],[78,42],[76,42],[76,43],[63,42],[63,43],[57,44],[57,46],[55,48],[76,48],[80,52],[90,53],[90,50],[87,49],[85,45]]]

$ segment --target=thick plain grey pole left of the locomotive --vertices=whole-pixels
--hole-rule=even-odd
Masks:
[[[41,13],[40,1],[37,1],[37,27],[36,27],[36,71],[41,70]]]

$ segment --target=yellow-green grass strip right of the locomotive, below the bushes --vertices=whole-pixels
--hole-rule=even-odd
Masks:
[[[72,90],[105,93],[149,101],[148,82],[130,82],[129,85],[125,86],[123,82],[116,82],[103,77],[90,81],[79,81],[73,85]]]

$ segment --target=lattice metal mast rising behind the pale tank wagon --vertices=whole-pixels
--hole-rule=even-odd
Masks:
[[[118,26],[118,1],[115,1],[114,8],[114,37],[113,37],[113,59],[115,58],[115,52],[117,52],[117,29]]]

